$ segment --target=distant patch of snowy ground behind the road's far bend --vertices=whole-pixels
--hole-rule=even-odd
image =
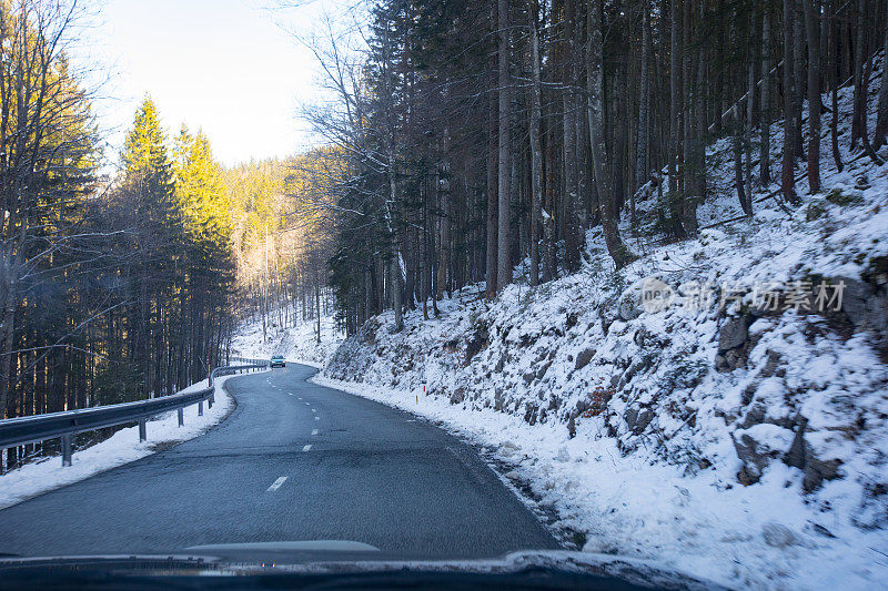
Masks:
[[[275,314],[270,314],[274,320]],[[262,338],[262,318],[241,325],[231,342],[232,350],[244,357],[268,359],[283,355],[289,361],[321,367],[345,338],[332,316],[321,318],[321,343],[317,343],[315,320],[304,320],[296,326],[279,328],[272,322],[266,326],[266,340]]]

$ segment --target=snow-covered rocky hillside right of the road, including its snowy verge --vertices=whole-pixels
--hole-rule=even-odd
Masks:
[[[636,236],[620,272],[591,232],[574,275],[493,303],[471,286],[401,333],[373,318],[320,380],[484,445],[588,551],[730,585],[885,584],[888,165],[855,156],[839,173],[825,142],[821,193],[803,181],[800,206],[766,198],[678,244]],[[708,161],[702,225],[741,213],[729,142]]]

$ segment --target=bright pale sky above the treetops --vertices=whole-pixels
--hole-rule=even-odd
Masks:
[[[297,108],[314,61],[279,23],[310,27],[312,7],[282,14],[261,0],[100,0],[93,55],[111,80],[98,102],[122,145],[145,93],[168,131],[203,129],[218,160],[285,156],[306,145]],[[117,151],[117,150],[114,150]]]

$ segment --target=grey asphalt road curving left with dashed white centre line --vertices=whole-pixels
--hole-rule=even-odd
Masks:
[[[559,548],[470,447],[305,381],[314,371],[231,378],[238,408],[205,435],[0,511],[0,553],[331,539],[404,558]]]

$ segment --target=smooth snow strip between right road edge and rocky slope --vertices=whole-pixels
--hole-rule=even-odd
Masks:
[[[727,587],[862,590],[888,581],[885,531],[857,530],[787,495],[787,483],[797,488],[800,480],[788,467],[774,467],[756,487],[725,487],[715,472],[686,478],[678,467],[623,456],[612,438],[571,439],[561,424],[452,405],[421,387],[320,374],[311,380],[443,422],[492,448],[512,467],[505,478],[538,496],[525,502],[555,509],[553,529],[587,532],[585,551],[649,559]]]

